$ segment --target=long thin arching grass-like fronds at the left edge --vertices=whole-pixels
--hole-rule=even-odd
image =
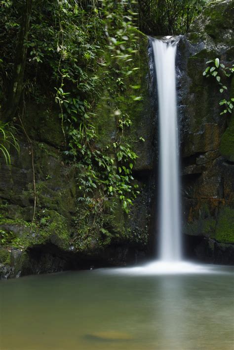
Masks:
[[[2,123],[0,121],[0,153],[3,155],[6,164],[11,163],[10,159],[10,146],[15,148],[19,152],[19,143],[14,136],[15,128],[8,123]]]

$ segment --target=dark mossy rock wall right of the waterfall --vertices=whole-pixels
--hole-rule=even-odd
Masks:
[[[199,259],[234,262],[234,113],[220,115],[219,101],[234,97],[234,78],[219,92],[202,72],[218,57],[234,64],[234,1],[210,3],[179,43],[183,231],[196,236]],[[192,242],[192,241],[191,241]]]

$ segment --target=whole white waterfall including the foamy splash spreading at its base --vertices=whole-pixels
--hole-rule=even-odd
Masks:
[[[159,111],[159,259],[143,266],[112,269],[111,274],[114,271],[130,276],[146,276],[213,274],[216,271],[215,266],[207,267],[182,258],[175,70],[176,49],[180,38],[181,36],[166,36],[160,40],[151,38]]]

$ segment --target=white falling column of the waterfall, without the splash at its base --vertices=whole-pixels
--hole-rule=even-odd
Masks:
[[[152,38],[159,111],[159,260],[181,261],[175,57],[179,37]]]

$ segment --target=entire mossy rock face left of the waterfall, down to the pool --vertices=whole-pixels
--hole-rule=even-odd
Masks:
[[[78,202],[82,196],[78,187],[80,168],[65,161],[58,106],[46,98],[40,105],[26,101],[23,124],[32,143],[20,135],[20,154],[12,150],[11,166],[1,162],[0,167],[0,230],[3,232],[0,271],[3,277],[61,271],[73,268],[74,261],[81,258],[95,259],[97,264],[100,260],[102,264],[124,265],[129,254],[134,260],[136,250],[147,249],[156,115],[150,102],[148,37],[138,31],[136,35],[140,50],[132,65],[139,66],[140,70],[126,79],[122,90],[116,84],[115,73],[104,79],[100,87],[102,98],[94,106],[92,112],[96,115],[93,114],[91,120],[96,128],[95,148],[103,150],[108,145],[108,152],[117,159],[112,143],[121,138],[121,142],[128,143],[138,155],[133,172],[141,193],[131,214],[123,212],[119,201],[112,210],[111,203],[106,203],[107,208],[100,217],[91,214],[89,220],[85,220],[87,208]],[[113,72],[115,65],[117,63],[112,64]],[[100,76],[105,75],[102,70],[105,68],[100,67]],[[139,84],[141,88],[137,92],[131,88]],[[134,93],[142,96],[142,100],[133,102]],[[115,115],[116,106],[131,120],[122,134]],[[95,220],[99,220],[98,223]],[[131,249],[135,249],[134,253]],[[74,254],[78,254],[76,259]]]

